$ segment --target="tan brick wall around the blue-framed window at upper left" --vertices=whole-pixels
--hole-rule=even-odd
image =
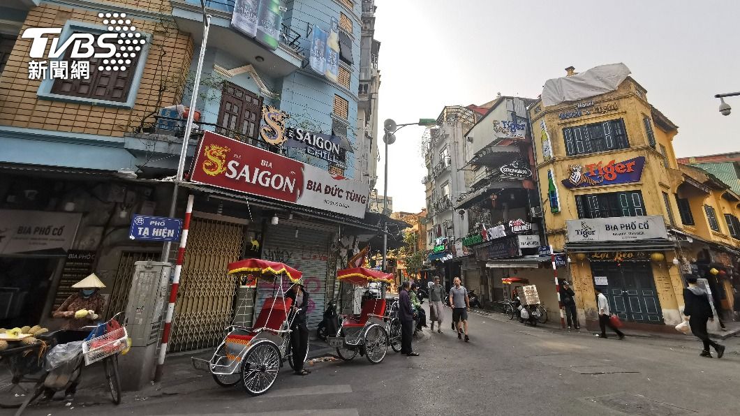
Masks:
[[[191,38],[180,33],[169,17],[169,1],[107,2],[165,12],[158,20],[132,19],[141,31],[152,35],[135,107],[118,109],[37,99],[41,80],[28,79],[31,41],[19,34],[0,78],[0,125],[121,137],[158,107],[181,104],[182,85],[193,47]],[[64,27],[67,20],[101,24],[97,13],[44,4],[30,10],[21,33],[28,27]],[[154,119],[149,116],[147,121],[153,122]]]

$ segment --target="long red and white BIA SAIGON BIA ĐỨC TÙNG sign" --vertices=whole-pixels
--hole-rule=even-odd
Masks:
[[[365,217],[368,185],[204,132],[190,181],[278,201]]]

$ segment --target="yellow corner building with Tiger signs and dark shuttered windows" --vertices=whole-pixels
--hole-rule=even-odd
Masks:
[[[721,217],[739,215],[736,195],[705,184],[708,176],[687,179],[673,152],[678,127],[644,87],[627,77],[609,93],[549,107],[537,101],[529,115],[548,243],[568,255],[581,320],[598,325],[599,286],[628,327],[670,329],[682,319],[683,278],[691,270],[704,277],[696,263],[727,255],[731,282],[739,241]],[[719,231],[705,205],[716,210]],[[687,209],[691,226],[682,221]],[[722,254],[700,261],[702,249]],[[732,297],[729,284],[715,283]]]

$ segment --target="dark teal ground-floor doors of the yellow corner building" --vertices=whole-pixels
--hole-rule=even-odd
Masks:
[[[617,266],[614,261],[594,261],[591,272],[596,283],[599,277],[607,278],[604,295],[619,318],[637,323],[663,323],[649,262],[625,261]]]

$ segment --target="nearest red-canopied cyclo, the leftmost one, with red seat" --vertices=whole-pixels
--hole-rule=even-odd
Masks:
[[[192,358],[196,369],[208,370],[219,386],[235,386],[241,382],[249,395],[267,392],[277,379],[280,367],[287,360],[295,369],[295,360],[306,361],[306,355],[294,357],[290,342],[291,324],[300,309],[291,309],[292,299],[285,294],[300,281],[302,273],[274,261],[257,258],[229,264],[229,275],[246,277],[248,284],[272,286],[272,296],[265,298],[257,321],[251,327],[239,325],[240,312],[246,311],[249,299],[243,299],[228,334],[215,349],[210,360]],[[283,289],[283,278],[290,281]],[[242,315],[243,316],[243,315]]]

